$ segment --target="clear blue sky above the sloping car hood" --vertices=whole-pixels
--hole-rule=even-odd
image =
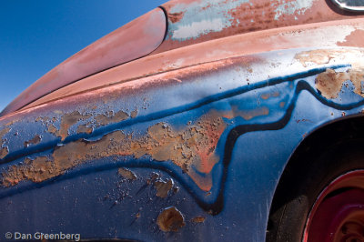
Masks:
[[[167,0],[0,0],[0,110],[79,50]]]

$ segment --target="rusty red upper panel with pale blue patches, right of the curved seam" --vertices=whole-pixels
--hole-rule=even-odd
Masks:
[[[175,0],[162,6],[168,15],[168,33],[157,52],[224,36],[351,17],[319,0]]]

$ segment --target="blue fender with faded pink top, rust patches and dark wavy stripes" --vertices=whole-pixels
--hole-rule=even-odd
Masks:
[[[363,31],[357,17],[187,42],[2,116],[0,234],[264,241],[300,142],[363,113]]]

